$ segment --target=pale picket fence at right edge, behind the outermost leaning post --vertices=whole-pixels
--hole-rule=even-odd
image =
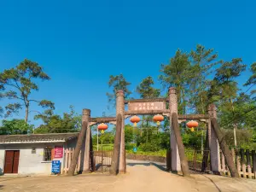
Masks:
[[[230,150],[236,169],[240,177],[256,179],[256,154],[255,150],[234,149]],[[230,171],[225,163],[225,157],[220,151],[220,170],[224,175],[230,176]]]

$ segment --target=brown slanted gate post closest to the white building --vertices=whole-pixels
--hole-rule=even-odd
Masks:
[[[69,169],[68,169],[68,175],[69,176],[73,176],[73,174],[74,174],[76,165],[77,165],[78,160],[79,160],[79,153],[80,153],[82,145],[84,143],[84,137],[85,137],[88,125],[89,125],[89,121],[90,121],[90,109],[84,109],[83,110],[83,117],[82,117],[82,130],[79,133],[78,142],[77,142],[74,154],[73,154],[73,160],[72,160],[71,165],[69,166]]]

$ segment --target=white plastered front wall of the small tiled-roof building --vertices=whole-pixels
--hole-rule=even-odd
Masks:
[[[63,146],[64,143],[24,143],[24,144],[1,144],[0,146],[0,174],[3,174],[5,150],[20,150],[18,174],[51,174],[51,161],[43,162],[44,147]],[[32,148],[36,148],[36,154],[32,154]],[[64,150],[61,159],[61,170],[64,165]]]

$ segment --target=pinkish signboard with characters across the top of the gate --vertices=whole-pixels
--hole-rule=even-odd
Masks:
[[[166,109],[166,102],[129,102],[129,111],[151,111]]]

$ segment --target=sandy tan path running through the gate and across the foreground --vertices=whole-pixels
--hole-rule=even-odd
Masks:
[[[160,170],[147,162],[128,161],[127,174],[75,177],[0,177],[0,191],[26,192],[249,192],[256,191],[253,179],[232,179],[212,175],[184,178]]]

